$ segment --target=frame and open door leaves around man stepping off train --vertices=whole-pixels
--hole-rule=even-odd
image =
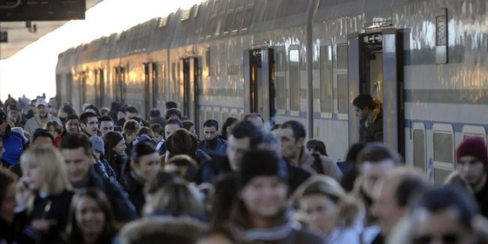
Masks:
[[[359,94],[369,92],[369,86],[365,86],[367,79],[369,79],[369,70],[366,62],[364,38],[368,35],[378,34],[382,37],[383,47],[383,88],[381,89],[383,141],[405,157],[403,29],[386,28],[377,32],[353,33],[347,36],[349,144],[359,141],[360,124],[359,120],[355,118],[356,111],[352,106],[352,101]]]

